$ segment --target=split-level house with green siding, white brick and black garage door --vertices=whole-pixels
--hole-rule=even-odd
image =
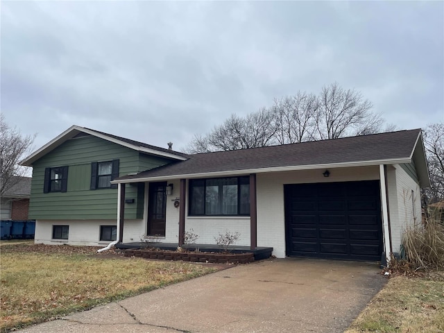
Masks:
[[[239,245],[276,257],[379,261],[420,223],[429,173],[420,129],[186,155],[72,126],[33,167],[35,242],[107,245],[141,235]]]

